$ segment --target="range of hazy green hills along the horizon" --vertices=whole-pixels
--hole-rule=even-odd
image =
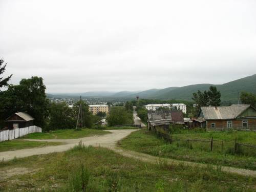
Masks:
[[[140,92],[133,91],[121,91],[121,92],[86,92],[81,94],[65,94],[65,96],[71,97],[72,95],[82,95],[83,97],[116,97],[116,98],[140,98],[148,99],[178,99],[178,100],[192,100],[192,94],[198,90],[209,90],[210,86],[216,86],[221,92],[222,101],[237,101],[238,92],[247,91],[256,94],[256,74],[227,82],[224,84],[192,84],[184,87],[169,87],[165,89],[150,89]],[[48,94],[48,97],[56,97],[55,94]],[[57,94],[61,96],[61,94]],[[63,95],[62,95],[63,96]]]

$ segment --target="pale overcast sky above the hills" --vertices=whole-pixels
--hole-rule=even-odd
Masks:
[[[48,93],[221,84],[256,73],[256,1],[0,0],[0,57]]]

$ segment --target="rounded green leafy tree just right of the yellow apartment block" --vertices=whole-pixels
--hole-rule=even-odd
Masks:
[[[106,120],[109,126],[133,124],[133,114],[127,112],[123,106],[113,106]]]

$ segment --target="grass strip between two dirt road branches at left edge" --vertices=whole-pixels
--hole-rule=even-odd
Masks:
[[[60,144],[62,144],[62,142],[23,141],[23,140],[3,141],[3,142],[0,142],[0,152],[15,151],[15,150],[22,150],[24,148],[45,147],[45,146],[60,145]]]

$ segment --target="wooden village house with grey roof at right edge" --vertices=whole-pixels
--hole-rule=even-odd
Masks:
[[[256,130],[256,109],[249,104],[202,106],[198,117],[206,130]]]

